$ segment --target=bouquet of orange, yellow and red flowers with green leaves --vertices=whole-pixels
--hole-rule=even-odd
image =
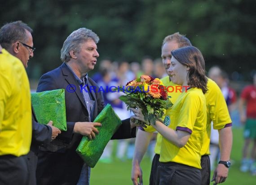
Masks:
[[[141,108],[144,119],[149,125],[155,124],[156,119],[162,118],[164,110],[172,106],[163,82],[148,75],[141,75],[140,78],[128,82],[119,91],[125,93],[119,99],[125,102],[127,110],[130,107]],[[141,124],[139,120],[134,122]]]

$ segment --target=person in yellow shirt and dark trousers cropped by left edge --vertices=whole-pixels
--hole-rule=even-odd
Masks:
[[[22,62],[0,45],[0,184],[27,185],[31,97]]]

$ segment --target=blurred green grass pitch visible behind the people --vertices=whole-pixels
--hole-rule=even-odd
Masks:
[[[233,128],[233,148],[231,153],[232,166],[227,180],[223,185],[256,185],[256,176],[250,173],[239,171],[241,151],[243,146],[243,130]],[[91,185],[132,185],[131,181],[131,160],[124,162],[114,159],[113,163],[97,163],[92,168]],[[148,185],[151,168],[149,158],[144,158],[141,162],[143,170],[143,184]],[[211,183],[213,184],[213,183]]]

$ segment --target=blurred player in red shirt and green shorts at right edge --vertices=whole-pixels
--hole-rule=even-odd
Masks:
[[[240,170],[241,172],[250,170],[252,175],[256,175],[256,74],[253,75],[253,84],[245,87],[241,93],[239,113],[241,123],[245,124],[243,132],[245,142]],[[252,141],[252,153],[248,159],[249,145]]]

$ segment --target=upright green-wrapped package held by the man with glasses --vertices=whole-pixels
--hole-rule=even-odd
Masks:
[[[31,93],[32,106],[38,123],[47,124],[66,131],[65,90],[56,89],[40,93]]]

